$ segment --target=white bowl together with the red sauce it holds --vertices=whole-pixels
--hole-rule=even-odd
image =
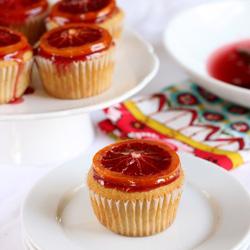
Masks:
[[[178,13],[164,45],[197,84],[250,108],[250,1],[214,1]]]

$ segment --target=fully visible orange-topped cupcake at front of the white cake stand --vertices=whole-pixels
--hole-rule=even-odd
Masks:
[[[45,91],[62,99],[104,92],[112,83],[115,47],[98,26],[68,24],[46,32],[35,57]]]

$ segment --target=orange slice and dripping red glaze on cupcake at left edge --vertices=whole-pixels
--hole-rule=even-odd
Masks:
[[[28,51],[32,51],[32,48],[28,44],[27,38],[22,33],[9,28],[0,27],[0,60],[15,61],[19,66],[13,99],[16,99],[17,85],[24,67],[23,55]]]

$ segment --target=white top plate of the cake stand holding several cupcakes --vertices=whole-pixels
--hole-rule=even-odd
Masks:
[[[35,93],[20,104],[0,105],[0,120],[55,118],[92,112],[122,102],[143,89],[155,76],[159,60],[153,47],[130,29],[123,31],[112,86],[104,93],[80,100],[61,100],[43,90],[34,67]]]

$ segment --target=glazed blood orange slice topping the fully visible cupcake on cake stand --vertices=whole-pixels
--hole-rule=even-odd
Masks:
[[[76,57],[106,49],[112,42],[108,31],[84,24],[68,24],[46,32],[41,49],[55,56]]]

